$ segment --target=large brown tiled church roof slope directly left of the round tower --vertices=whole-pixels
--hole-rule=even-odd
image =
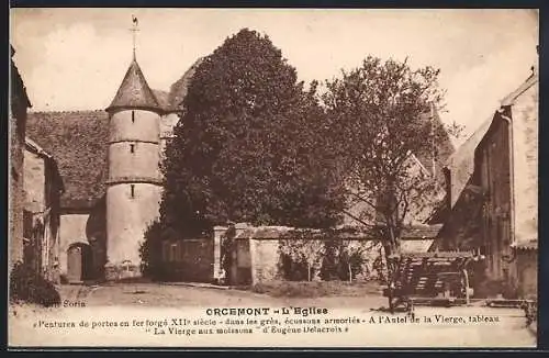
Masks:
[[[26,133],[57,161],[65,184],[63,208],[90,208],[104,194],[107,112],[30,112]]]

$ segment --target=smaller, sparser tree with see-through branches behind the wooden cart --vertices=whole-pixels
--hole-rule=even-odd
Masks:
[[[345,166],[346,212],[379,237],[388,258],[400,254],[405,225],[425,214],[439,192],[437,175],[422,164],[449,141],[430,113],[441,105],[439,70],[413,70],[406,60],[368,57],[323,94],[332,148]],[[428,160],[427,160],[428,161]]]

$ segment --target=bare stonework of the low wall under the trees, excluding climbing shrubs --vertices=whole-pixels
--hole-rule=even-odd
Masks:
[[[227,227],[216,226],[212,237],[197,239],[165,240],[163,243],[163,261],[167,279],[171,281],[198,281],[215,282],[223,278],[232,278],[231,284],[255,284],[259,282],[287,279],[282,270],[281,246],[292,240],[303,240],[303,238],[288,235],[291,228],[283,226],[259,226],[253,227],[245,224],[236,224],[235,250],[232,255],[235,260],[232,267],[233,272],[224,272],[222,265],[223,240]],[[378,279],[380,272],[377,271],[376,261],[383,260],[383,248],[377,240],[362,236],[354,238],[312,238],[311,242],[320,243],[325,247],[328,243],[336,246],[362,248],[363,265],[361,272],[356,275],[354,280],[367,281]],[[405,240],[405,244],[408,239]],[[410,239],[423,244],[426,239]],[[429,239],[427,242],[430,243]],[[428,246],[422,246],[422,251],[426,251]],[[425,246],[425,247],[424,247]],[[404,245],[414,251],[417,245]],[[321,261],[323,254],[318,254]],[[234,272],[236,271],[235,276]],[[347,271],[346,271],[347,272]],[[306,278],[304,278],[306,279]],[[318,270],[314,279],[318,279]]]

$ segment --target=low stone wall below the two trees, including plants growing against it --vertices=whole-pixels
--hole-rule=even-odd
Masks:
[[[300,233],[294,233],[293,228],[285,226],[254,227],[245,224],[235,225],[233,238],[227,237],[227,227],[216,226],[212,237],[164,242],[163,269],[167,275],[163,276],[166,280],[172,281],[226,281],[231,284],[307,280],[309,267],[302,259],[303,255],[311,257],[304,254],[307,250],[313,250],[317,258],[311,270],[312,280],[347,280],[351,276],[352,280],[368,281],[382,276],[380,267],[380,264],[384,262],[382,246],[366,236],[310,237],[301,236]],[[234,245],[225,245],[227,239],[234,239]],[[430,240],[427,244],[430,245]],[[406,250],[412,251],[426,251],[429,246],[424,245],[425,239],[405,242],[403,249],[406,247]],[[223,253],[226,247],[233,247],[234,250]],[[290,251],[288,247],[291,247]],[[329,255],[326,251],[327,247],[333,249]],[[348,260],[341,255],[340,249],[352,255],[360,251],[362,262],[351,264],[349,269]],[[289,260],[288,255],[293,258]],[[232,257],[233,266],[229,272],[224,271],[223,257]]]

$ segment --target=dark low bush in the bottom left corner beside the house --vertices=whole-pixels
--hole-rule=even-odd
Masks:
[[[36,272],[31,265],[20,261],[11,271],[10,301],[53,306],[60,304],[60,297],[54,283]]]

